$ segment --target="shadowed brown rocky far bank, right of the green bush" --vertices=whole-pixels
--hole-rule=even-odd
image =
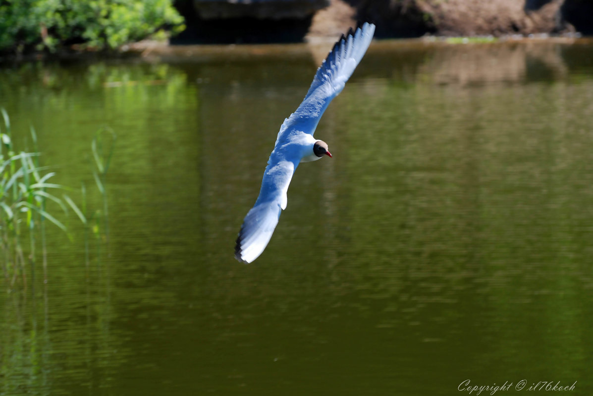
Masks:
[[[377,37],[593,34],[593,0],[178,1],[197,41],[333,37],[372,21]],[[283,38],[286,38],[285,40]],[[182,40],[183,41],[183,40]]]

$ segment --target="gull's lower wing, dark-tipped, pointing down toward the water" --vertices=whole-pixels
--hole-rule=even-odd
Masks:
[[[298,163],[297,163],[298,165]],[[278,218],[286,208],[286,191],[297,167],[291,161],[272,161],[263,174],[262,189],[256,204],[247,213],[235,244],[237,260],[250,263],[266,249]]]

